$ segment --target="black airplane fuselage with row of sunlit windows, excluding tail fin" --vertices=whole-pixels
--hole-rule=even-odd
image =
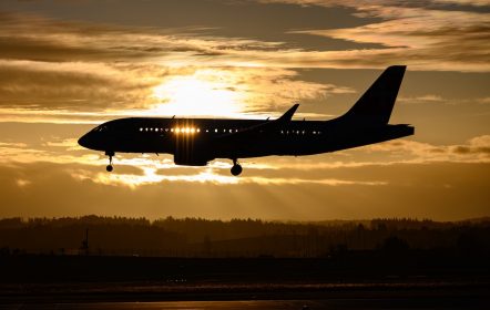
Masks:
[[[407,125],[359,127],[338,120],[290,121],[243,134],[267,122],[273,121],[129,117],[103,123],[80,144],[113,153],[166,153],[176,164],[206,165],[215,158],[319,154],[414,134]]]

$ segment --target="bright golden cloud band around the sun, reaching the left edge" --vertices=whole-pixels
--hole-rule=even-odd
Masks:
[[[178,89],[182,81],[202,83],[208,89],[207,93],[202,93],[204,97],[196,99],[203,106],[211,104],[203,111],[212,108],[218,100],[226,100],[223,93],[236,97],[235,102],[223,103],[226,108],[236,105],[236,115],[282,113],[296,101],[354,92],[345,86],[305,82],[297,78],[293,70],[274,68],[0,61],[0,118],[80,123],[127,115],[181,114],[184,102],[174,103],[177,113],[170,108],[170,103],[174,100],[172,95],[183,95],[183,90]],[[194,105],[194,113],[200,111],[196,102],[188,104]],[[101,114],[101,111],[105,113]],[[226,111],[215,108],[212,113],[217,116]]]

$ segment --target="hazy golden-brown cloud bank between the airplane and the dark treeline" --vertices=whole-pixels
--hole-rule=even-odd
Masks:
[[[2,164],[0,216],[96,214],[152,219],[172,215],[223,219],[420,217],[450,220],[488,214],[489,197],[484,194],[488,164],[399,164],[329,172],[296,170],[298,183],[288,182],[292,172],[280,173],[287,180],[283,183],[276,182],[280,177],[267,175],[267,170],[263,176],[272,179],[269,183],[165,179],[134,186],[131,190],[126,185],[98,179],[100,168],[45,162]],[[80,177],[81,174],[85,176]],[[381,183],[367,185],[363,182],[372,179],[374,175]]]

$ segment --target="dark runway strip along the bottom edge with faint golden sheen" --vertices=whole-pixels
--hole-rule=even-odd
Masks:
[[[489,309],[488,287],[297,289],[180,294],[75,293],[3,299],[0,309]],[[18,297],[19,298],[19,297]],[[159,300],[160,298],[160,300]],[[290,299],[288,299],[290,298]],[[172,300],[174,299],[174,300]],[[177,300],[180,299],[180,300]],[[7,301],[7,302],[6,302]]]

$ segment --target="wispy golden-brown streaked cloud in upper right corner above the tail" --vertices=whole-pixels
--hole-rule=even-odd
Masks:
[[[408,64],[410,70],[490,71],[488,62],[490,16],[484,12],[445,10],[443,7],[433,7],[437,2],[431,1],[411,4],[404,1],[263,2],[348,7],[357,10],[358,17],[377,19],[350,28],[293,30],[292,33],[320,35],[357,43],[378,43],[384,46],[316,53],[315,56],[324,58],[324,65],[379,68],[404,63]],[[315,56],[309,58],[312,63]],[[308,61],[306,55],[303,59]]]

